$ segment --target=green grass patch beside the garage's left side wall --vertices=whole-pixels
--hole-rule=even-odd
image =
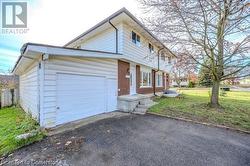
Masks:
[[[27,140],[15,140],[15,137],[29,131],[38,130],[37,135]],[[18,107],[0,109],[0,156],[13,150],[41,140],[44,134],[39,130],[39,125],[29,115]]]

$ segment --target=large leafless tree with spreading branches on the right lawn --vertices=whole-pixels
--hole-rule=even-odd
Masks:
[[[210,104],[219,106],[219,85],[250,75],[248,0],[140,0],[149,29],[174,51],[190,55],[212,73]],[[209,60],[210,64],[204,63]],[[244,71],[244,72],[243,72]]]

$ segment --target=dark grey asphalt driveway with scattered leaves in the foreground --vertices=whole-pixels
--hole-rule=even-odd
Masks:
[[[250,165],[250,135],[154,115],[101,120],[16,151],[4,165]]]

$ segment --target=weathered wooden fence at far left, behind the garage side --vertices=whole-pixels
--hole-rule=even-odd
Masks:
[[[0,108],[17,104],[17,89],[2,89],[0,93]]]

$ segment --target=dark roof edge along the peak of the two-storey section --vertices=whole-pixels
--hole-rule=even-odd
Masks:
[[[74,38],[73,40],[69,41],[67,44],[64,45],[64,47],[67,47],[68,45],[72,44],[73,42],[79,40],[80,38],[82,38],[83,36],[89,34],[90,32],[94,31],[95,29],[97,29],[98,27],[104,25],[105,23],[111,21],[112,19],[114,19],[115,17],[119,16],[120,14],[125,13],[127,16],[129,16],[133,21],[135,21],[143,30],[145,30],[150,36],[152,36],[152,38],[154,38],[157,42],[159,42],[161,44],[161,46],[168,50],[170,52],[170,54],[172,54],[173,56],[175,56],[175,54],[173,52],[171,52],[152,32],[150,32],[133,14],[131,14],[125,7],[121,8],[120,10],[118,10],[117,12],[113,13],[112,15],[110,15],[109,17],[107,17],[106,19],[102,20],[101,22],[99,22],[98,24],[96,24],[95,26],[93,26],[92,28],[88,29],[87,31],[85,31],[84,33],[82,33],[81,35],[77,36],[76,38]]]

